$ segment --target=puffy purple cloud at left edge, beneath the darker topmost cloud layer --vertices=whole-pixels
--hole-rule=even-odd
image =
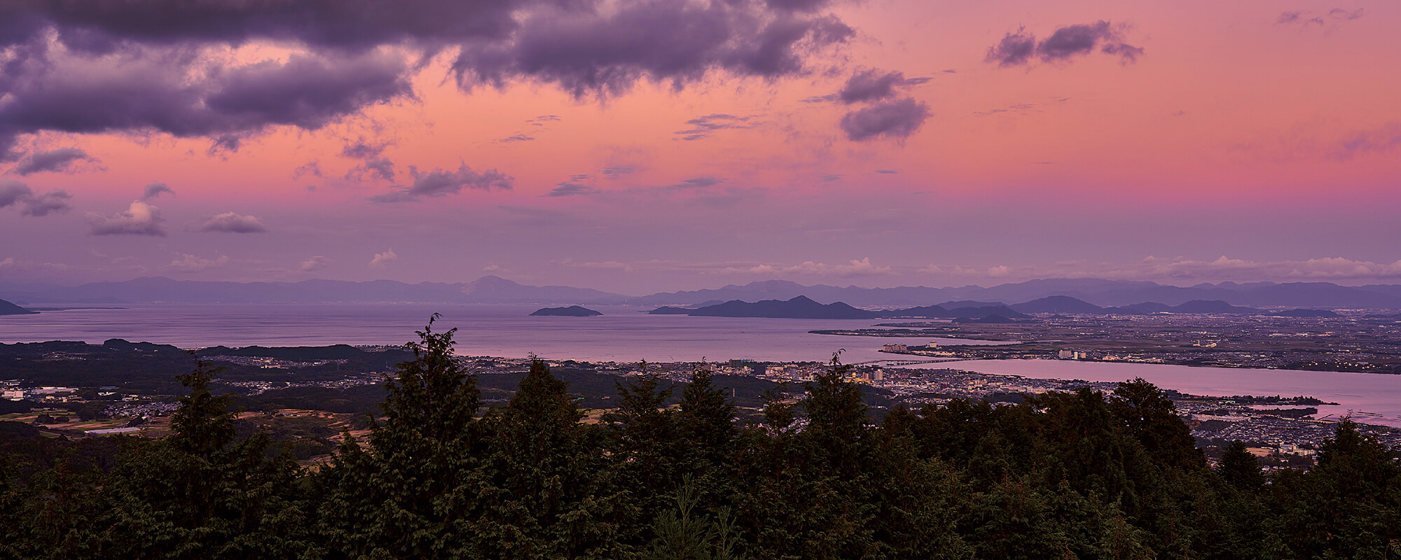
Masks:
[[[0,154],[18,134],[42,130],[157,130],[210,137],[237,151],[272,125],[319,129],[373,104],[410,94],[402,59],[381,55],[290,55],[233,69],[202,67],[188,55],[142,50],[113,60],[70,55],[24,60],[0,81]],[[188,73],[203,69],[199,80]]]

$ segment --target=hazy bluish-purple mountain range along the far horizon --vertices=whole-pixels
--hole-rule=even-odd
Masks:
[[[752,281],[744,286],[724,286],[713,290],[672,291],[651,295],[623,295],[569,286],[525,286],[496,276],[483,276],[469,283],[417,283],[392,280],[342,281],[198,281],[167,277],[142,277],[127,281],[102,281],[81,286],[43,283],[3,283],[0,298],[18,304],[283,304],[283,302],[451,302],[451,304],[570,304],[570,305],[679,305],[698,307],[727,301],[787,301],[807,297],[817,302],[845,302],[864,308],[913,308],[940,304],[954,308],[995,307],[999,302],[1021,301],[1020,312],[1077,312],[1058,305],[1056,300],[1041,301],[1035,308],[1026,305],[1038,300],[1066,297],[1098,307],[1132,311],[1143,302],[1178,307],[1192,301],[1222,301],[1233,307],[1251,308],[1366,308],[1401,309],[1401,284],[1338,286],[1331,283],[1220,283],[1191,287],[1163,286],[1152,281],[1101,279],[1028,280],[993,287],[895,287],[864,288],[857,286],[803,286],[786,280]],[[1031,311],[1045,309],[1045,311]],[[1051,311],[1061,309],[1061,311]],[[1094,312],[1090,308],[1083,308]],[[1157,312],[1168,309],[1139,309]],[[1005,315],[1006,316],[1006,315]]]

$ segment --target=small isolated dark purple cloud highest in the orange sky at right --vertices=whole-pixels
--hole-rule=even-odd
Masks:
[[[1121,62],[1138,62],[1143,55],[1143,48],[1124,42],[1128,29],[1124,24],[1111,24],[1100,20],[1093,24],[1075,24],[1058,28],[1051,36],[1037,42],[1035,35],[1019,28],[1002,38],[998,45],[988,49],[986,62],[998,66],[1021,66],[1031,62],[1033,56],[1042,62],[1063,62],[1077,56],[1101,53],[1118,56]]]

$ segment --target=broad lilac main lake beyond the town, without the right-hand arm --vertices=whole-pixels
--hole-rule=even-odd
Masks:
[[[35,304],[31,307],[43,307]],[[593,307],[602,316],[528,316],[535,305],[123,305],[125,309],[45,311],[0,316],[0,342],[106,339],[153,342],[179,347],[402,344],[434,312],[440,329],[457,328],[464,356],[525,357],[586,361],[710,361],[750,358],[828,361],[845,349],[842,361],[888,358],[881,344],[993,344],[930,337],[864,337],[810,335],[815,329],[862,328],[869,321],[755,319],[647,315],[650,308]]]

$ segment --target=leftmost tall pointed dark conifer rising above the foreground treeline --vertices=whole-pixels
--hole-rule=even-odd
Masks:
[[[234,438],[227,396],[209,388],[217,368],[198,364],[164,441],[130,441],[92,507],[84,553],[105,559],[319,557],[287,454],[268,458],[259,433]]]

